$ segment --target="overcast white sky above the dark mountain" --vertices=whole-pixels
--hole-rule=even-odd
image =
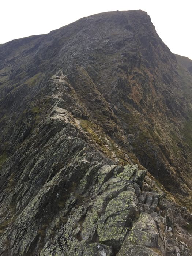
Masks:
[[[46,34],[99,12],[142,9],[170,50],[192,59],[191,0],[0,0],[0,8],[0,43]]]

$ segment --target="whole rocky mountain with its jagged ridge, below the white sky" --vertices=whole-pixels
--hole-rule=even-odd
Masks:
[[[190,255],[190,63],[141,10],[0,45],[2,255]]]

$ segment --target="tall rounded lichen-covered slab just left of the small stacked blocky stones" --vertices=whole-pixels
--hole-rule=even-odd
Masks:
[[[138,200],[132,191],[123,191],[112,199],[105,209],[105,214],[99,218],[99,241],[113,246],[116,250],[120,249],[128,227],[138,213],[137,204]]]

